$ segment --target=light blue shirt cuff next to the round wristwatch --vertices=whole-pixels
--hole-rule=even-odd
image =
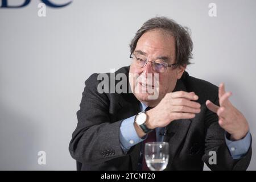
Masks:
[[[123,152],[127,153],[132,146],[142,142],[146,137],[140,138],[134,128],[135,115],[124,119],[120,126],[119,140]]]

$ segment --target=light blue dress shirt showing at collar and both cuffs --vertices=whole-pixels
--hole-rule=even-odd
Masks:
[[[147,105],[141,102],[141,110],[145,110]],[[147,135],[143,138],[140,138],[134,128],[134,118],[135,115],[124,119],[121,123],[120,132],[119,132],[119,140],[120,145],[123,152],[126,154],[132,146],[142,142],[147,138]],[[162,142],[164,140],[164,127],[158,127],[156,130],[156,140]],[[229,148],[230,154],[233,159],[240,159],[243,155],[247,153],[251,144],[251,134],[250,131],[246,134],[246,136],[241,140],[232,141],[226,137],[225,133],[226,145]]]

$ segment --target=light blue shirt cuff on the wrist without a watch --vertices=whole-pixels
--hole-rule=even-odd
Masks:
[[[227,138],[227,134],[225,132],[225,140],[226,145],[229,148],[229,152],[233,159],[240,159],[243,155],[247,153],[251,145],[251,134],[250,131],[246,134],[246,136],[240,140],[232,141]]]

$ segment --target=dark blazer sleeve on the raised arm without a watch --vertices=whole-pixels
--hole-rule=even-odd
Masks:
[[[218,96],[214,104],[219,105]],[[210,164],[210,151],[216,152],[216,163]],[[218,115],[207,109],[205,117],[205,151],[203,162],[211,170],[246,170],[251,160],[251,144],[245,155],[240,159],[233,159],[225,142],[225,131],[218,124]],[[211,159],[210,159],[211,160]]]

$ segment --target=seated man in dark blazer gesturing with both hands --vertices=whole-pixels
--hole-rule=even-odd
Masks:
[[[204,163],[213,170],[245,170],[251,159],[249,125],[228,100],[232,93],[224,84],[218,88],[185,72],[193,48],[187,29],[152,18],[130,47],[130,67],[105,74],[107,85],[100,74],[85,81],[69,144],[78,169],[145,169],[144,142],[154,135],[170,145],[166,170],[203,170]],[[112,92],[112,74],[127,78],[124,92]]]

